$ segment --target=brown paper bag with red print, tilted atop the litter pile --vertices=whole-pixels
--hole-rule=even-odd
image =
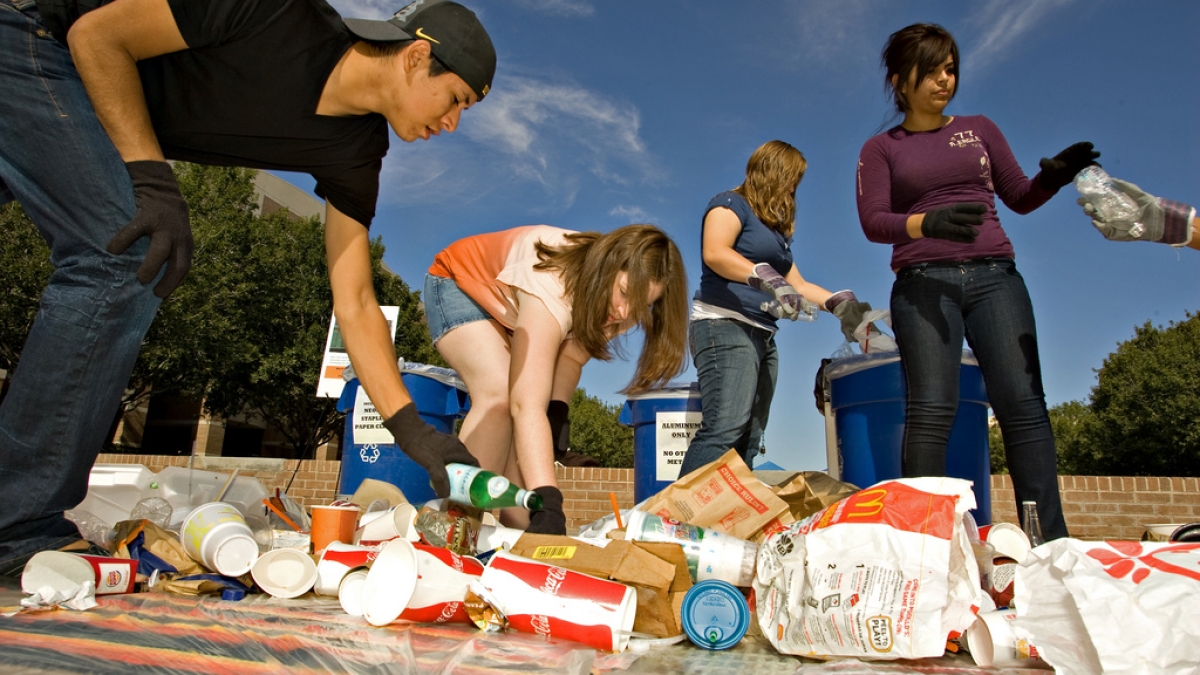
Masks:
[[[787,503],[733,449],[667,485],[643,510],[751,540],[794,522]]]

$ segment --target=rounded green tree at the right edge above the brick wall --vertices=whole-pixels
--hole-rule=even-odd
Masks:
[[[1104,359],[1091,408],[1105,473],[1200,476],[1200,315],[1136,328]]]

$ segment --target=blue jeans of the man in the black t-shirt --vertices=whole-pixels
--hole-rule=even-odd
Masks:
[[[2,569],[78,538],[62,512],[86,495],[158,299],[136,277],[145,239],[104,250],[133,187],[34,0],[0,0],[0,202],[20,202],[54,264],[0,405]]]

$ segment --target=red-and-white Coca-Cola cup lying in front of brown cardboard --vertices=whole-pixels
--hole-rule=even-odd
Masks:
[[[637,595],[629,586],[497,551],[480,583],[517,631],[605,651],[629,643]]]

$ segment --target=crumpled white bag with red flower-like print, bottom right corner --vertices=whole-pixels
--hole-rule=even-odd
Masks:
[[[1062,675],[1196,673],[1200,543],[1057,539],[1015,585],[1013,632]]]

